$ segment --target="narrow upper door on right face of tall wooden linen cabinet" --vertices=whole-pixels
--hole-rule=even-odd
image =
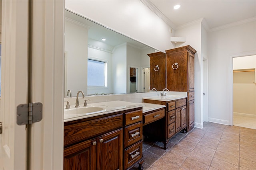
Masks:
[[[188,91],[192,92],[195,90],[195,66],[194,66],[194,55],[188,52]]]

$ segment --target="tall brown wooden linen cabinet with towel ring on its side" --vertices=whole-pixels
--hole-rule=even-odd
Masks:
[[[166,88],[170,91],[187,92],[187,128],[194,127],[194,55],[190,45],[166,50]]]

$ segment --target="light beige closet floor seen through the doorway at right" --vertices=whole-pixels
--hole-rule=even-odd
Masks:
[[[256,129],[256,117],[246,117],[243,115],[233,115],[233,125]]]

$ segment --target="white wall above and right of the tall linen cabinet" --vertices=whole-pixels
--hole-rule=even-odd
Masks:
[[[190,45],[195,54],[195,126],[202,128],[202,56],[201,56],[201,21],[176,30],[175,36],[186,37],[185,43],[177,47]]]

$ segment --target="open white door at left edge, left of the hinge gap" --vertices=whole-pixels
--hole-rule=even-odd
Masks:
[[[2,1],[0,169],[26,169],[26,125],[16,107],[28,102],[28,0]]]

